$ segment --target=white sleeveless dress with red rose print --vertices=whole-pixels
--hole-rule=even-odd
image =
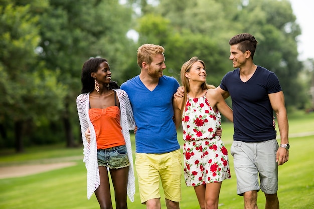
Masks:
[[[207,91],[206,91],[207,92]],[[187,98],[182,115],[184,179],[187,186],[231,178],[228,151],[219,136],[220,112],[205,97]]]

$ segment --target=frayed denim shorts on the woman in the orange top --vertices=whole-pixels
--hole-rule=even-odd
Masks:
[[[110,169],[118,169],[130,165],[125,145],[108,149],[97,149],[97,158],[98,166],[105,166]]]

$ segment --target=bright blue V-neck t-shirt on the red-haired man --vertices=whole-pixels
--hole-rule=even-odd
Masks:
[[[178,81],[169,76],[159,78],[153,91],[146,88],[139,76],[121,85],[129,96],[138,127],[135,134],[136,153],[162,154],[180,148],[172,119],[172,98],[178,87]]]

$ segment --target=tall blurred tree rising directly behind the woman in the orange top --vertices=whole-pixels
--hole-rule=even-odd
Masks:
[[[107,58],[113,78],[120,81],[133,49],[126,37],[131,15],[132,8],[118,1],[51,0],[41,16],[41,59],[47,68],[62,72],[58,81],[69,88],[62,114],[67,147],[76,145],[72,124],[79,126],[75,99],[81,89],[82,65],[90,57]]]

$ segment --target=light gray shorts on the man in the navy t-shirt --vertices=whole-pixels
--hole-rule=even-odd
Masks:
[[[278,190],[278,163],[276,153],[279,148],[276,139],[264,142],[234,141],[230,153],[233,156],[237,177],[237,194],[247,191],[275,194]],[[260,179],[260,186],[258,177]]]

